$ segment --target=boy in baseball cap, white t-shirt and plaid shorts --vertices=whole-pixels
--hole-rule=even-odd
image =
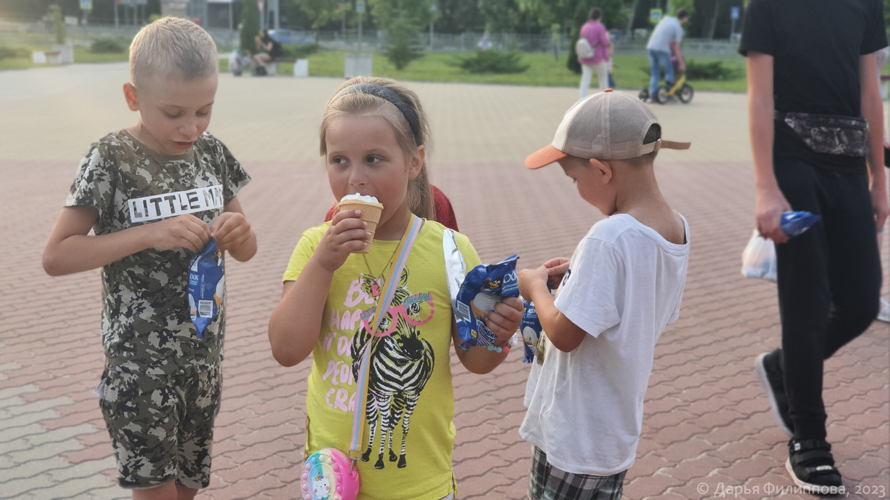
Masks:
[[[553,143],[525,159],[558,163],[606,215],[571,259],[519,272],[543,329],[520,428],[534,446],[532,500],[619,498],[634,463],[655,343],[679,314],[689,257],[686,220],[652,167],[659,149],[689,143],[660,135],[643,102],[607,89],[572,106]]]

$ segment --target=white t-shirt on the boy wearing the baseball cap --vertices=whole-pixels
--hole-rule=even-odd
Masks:
[[[634,463],[655,342],[680,312],[689,257],[683,223],[686,243],[676,245],[616,214],[575,248],[556,308],[590,335],[570,352],[541,335],[543,363],[532,363],[520,428],[556,468],[609,476]]]

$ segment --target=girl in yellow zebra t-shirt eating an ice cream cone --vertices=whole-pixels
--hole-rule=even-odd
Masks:
[[[269,321],[272,354],[281,365],[294,366],[312,353],[306,456],[320,448],[348,450],[353,412],[365,412],[359,498],[450,498],[455,428],[449,349],[460,338],[445,274],[445,229],[433,222],[424,110],[415,93],[392,80],[356,77],[328,101],[320,135],[334,196],[373,196],[384,207],[372,240],[358,210],[306,230]],[[373,327],[368,316],[415,216],[423,225],[404,269],[393,277],[399,281],[392,302],[381,306],[377,335],[383,336],[368,362],[367,404],[357,407],[360,353]],[[467,238],[456,238],[466,269],[473,269],[479,256]],[[502,352],[456,349],[457,358],[473,373],[490,372],[506,358],[506,343],[521,320],[522,301],[505,299],[486,320]]]

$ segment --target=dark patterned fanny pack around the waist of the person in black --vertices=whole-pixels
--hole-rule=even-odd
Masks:
[[[869,154],[869,122],[860,117],[775,112],[810,149],[817,153],[865,157]]]

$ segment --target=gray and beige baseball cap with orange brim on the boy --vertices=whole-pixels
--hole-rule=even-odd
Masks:
[[[554,141],[525,158],[525,166],[540,168],[568,156],[599,160],[642,157],[661,148],[689,149],[689,142],[643,144],[649,127],[659,119],[643,101],[606,89],[576,102],[562,117]]]

